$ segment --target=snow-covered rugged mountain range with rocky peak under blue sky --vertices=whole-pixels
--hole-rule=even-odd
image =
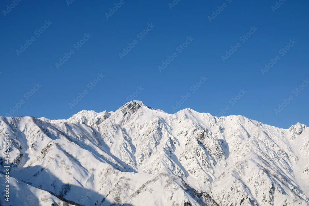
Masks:
[[[110,205],[117,194],[134,206],[202,205],[201,191],[234,191],[241,205],[309,205],[308,132],[141,101],[67,120],[1,116],[4,205]]]

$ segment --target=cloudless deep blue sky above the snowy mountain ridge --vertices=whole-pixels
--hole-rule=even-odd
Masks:
[[[309,126],[309,86],[302,88],[309,78],[308,1],[282,0],[278,9],[269,0],[172,2],[1,1],[0,116],[16,103],[12,116],[67,119],[83,109],[115,111],[133,95],[168,113],[189,107],[281,128]],[[121,7],[112,13],[115,3]],[[126,53],[128,43],[134,47]],[[231,47],[237,50],[226,55]],[[276,63],[263,75],[270,59]],[[186,101],[176,104],[181,96]]]

